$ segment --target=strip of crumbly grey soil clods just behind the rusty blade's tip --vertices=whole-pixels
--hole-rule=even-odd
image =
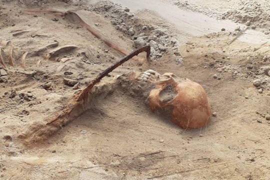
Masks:
[[[128,8],[122,8],[119,4],[110,1],[99,1],[89,9],[109,18],[115,29],[133,40],[135,47],[149,44],[152,59],[159,59],[166,53],[176,57],[180,55],[177,40],[173,34],[163,27],[143,21],[134,13],[129,12]]]

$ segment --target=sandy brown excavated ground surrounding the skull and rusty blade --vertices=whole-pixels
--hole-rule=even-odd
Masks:
[[[231,10],[228,0],[204,2],[212,14],[217,7]],[[156,4],[178,9],[168,0],[147,9],[128,6],[133,1],[122,2],[122,7],[95,3],[0,2],[0,47],[6,65],[0,66],[0,179],[268,179],[270,46],[269,34],[264,33],[268,27],[234,30],[246,24],[207,14],[202,17],[208,20],[198,23],[194,16],[189,18],[198,11],[183,16],[184,9],[174,18],[194,25],[181,29],[168,11],[157,10],[161,7]],[[61,112],[74,94],[123,56],[75,20],[24,11],[40,8],[72,9],[128,51],[135,49],[138,39],[158,45],[151,48],[149,62],[130,59],[104,77],[99,85],[106,86],[82,115],[47,139],[25,144],[21,137]],[[224,31],[222,22],[227,25]],[[8,62],[11,44],[14,67]],[[67,44],[77,47],[45,58]],[[23,68],[20,59],[25,51]],[[68,60],[62,62],[63,58]],[[173,72],[201,84],[216,114],[207,127],[179,128],[169,114],[151,112],[144,96],[115,80],[116,75],[147,69]],[[79,82],[78,87],[64,84],[63,78]],[[260,80],[257,86],[255,79]]]

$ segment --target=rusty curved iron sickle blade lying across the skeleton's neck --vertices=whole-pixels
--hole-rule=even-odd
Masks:
[[[24,139],[24,144],[26,145],[30,145],[32,142],[41,141],[48,138],[48,136],[55,133],[63,125],[74,120],[85,110],[87,110],[87,108],[89,107],[88,105],[90,104],[89,99],[93,99],[93,97],[103,93],[100,90],[92,90],[92,87],[96,83],[98,83],[104,76],[108,75],[108,73],[111,72],[113,69],[143,51],[145,51],[146,56],[149,57],[150,46],[145,46],[134,50],[130,54],[122,57],[116,63],[112,64],[110,67],[106,68],[104,71],[100,72],[86,88],[84,88],[77,95],[75,95],[73,99],[71,99],[70,103],[65,106],[65,108],[60,114],[46,120],[46,124],[39,124],[30,127],[30,129],[26,133],[21,133],[18,137]]]

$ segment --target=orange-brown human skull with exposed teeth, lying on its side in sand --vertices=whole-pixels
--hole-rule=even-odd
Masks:
[[[160,75],[152,69],[140,73],[136,79],[155,84],[148,96],[151,110],[171,106],[171,120],[181,128],[199,128],[210,121],[211,108],[200,84],[173,73]]]

